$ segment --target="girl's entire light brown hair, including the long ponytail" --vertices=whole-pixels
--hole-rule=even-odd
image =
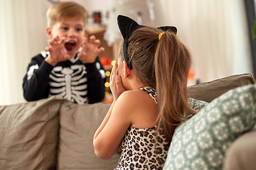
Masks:
[[[127,43],[127,55],[137,77],[156,89],[158,127],[171,142],[175,128],[196,114],[187,103],[191,55],[175,33],[166,31],[160,40],[159,33],[163,30],[151,27],[134,30]]]

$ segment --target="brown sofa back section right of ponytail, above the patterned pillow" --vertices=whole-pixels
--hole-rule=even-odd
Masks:
[[[210,101],[213,101],[214,98],[224,94],[226,91],[248,84],[255,84],[251,74],[237,74],[224,77],[223,79],[188,86],[188,97],[210,103]]]

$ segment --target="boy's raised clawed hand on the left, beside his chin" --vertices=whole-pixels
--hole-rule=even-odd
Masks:
[[[65,54],[65,42],[67,42],[66,38],[53,38],[48,40],[49,47],[46,47],[46,50],[50,52],[48,57],[46,57],[46,62],[55,66],[58,62],[63,62],[65,60],[70,60],[70,56]]]

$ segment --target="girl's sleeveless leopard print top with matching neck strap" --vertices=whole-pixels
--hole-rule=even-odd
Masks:
[[[140,90],[146,91],[156,101],[154,89],[144,87]],[[156,126],[145,129],[130,126],[124,135],[122,154],[114,170],[163,169],[168,149],[169,143],[163,131],[157,132]]]

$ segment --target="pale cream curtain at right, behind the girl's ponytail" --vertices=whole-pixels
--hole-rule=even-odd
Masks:
[[[201,81],[252,74],[249,33],[242,0],[161,0],[169,25],[191,50]]]

